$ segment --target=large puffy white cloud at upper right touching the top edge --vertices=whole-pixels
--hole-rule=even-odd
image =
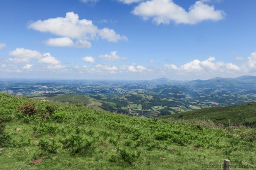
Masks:
[[[144,20],[152,19],[156,24],[170,24],[171,21],[176,24],[197,24],[203,20],[217,21],[225,17],[225,12],[215,10],[213,5],[209,6],[201,0],[191,5],[189,12],[172,0],[147,0],[135,7],[132,13]]]

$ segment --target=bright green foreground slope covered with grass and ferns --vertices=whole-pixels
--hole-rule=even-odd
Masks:
[[[17,111],[19,105],[31,101],[36,102],[35,116]],[[47,105],[54,106],[55,111],[47,119],[40,119]],[[3,94],[0,116],[8,120],[5,133],[12,137],[10,143],[0,143],[4,148],[0,169],[198,170],[203,164],[222,165],[225,158],[235,166],[256,163],[255,129],[250,128],[139,119],[81,104]],[[31,162],[39,159],[42,162],[36,165]]]

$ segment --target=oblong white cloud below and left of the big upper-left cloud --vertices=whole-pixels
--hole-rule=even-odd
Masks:
[[[42,54],[36,50],[24,49],[24,48],[16,48],[14,51],[10,51],[9,56],[19,57],[19,58],[41,58]]]

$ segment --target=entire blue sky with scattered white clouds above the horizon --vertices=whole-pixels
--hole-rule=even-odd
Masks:
[[[0,0],[0,78],[256,75],[255,0]]]

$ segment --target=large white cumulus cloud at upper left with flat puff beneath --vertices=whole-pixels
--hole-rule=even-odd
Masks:
[[[46,42],[49,41],[49,43],[46,44],[50,45],[57,44],[62,46],[90,48],[91,44],[88,40],[98,39],[99,37],[106,39],[109,42],[127,40],[126,36],[116,33],[113,29],[99,29],[91,20],[80,20],[78,14],[74,14],[74,12],[67,12],[66,17],[38,20],[29,24],[28,27],[29,29],[41,32],[50,32],[62,37],[62,39],[48,39]],[[69,39],[67,39],[67,37]],[[72,39],[77,40],[75,44],[71,42],[73,41]]]

